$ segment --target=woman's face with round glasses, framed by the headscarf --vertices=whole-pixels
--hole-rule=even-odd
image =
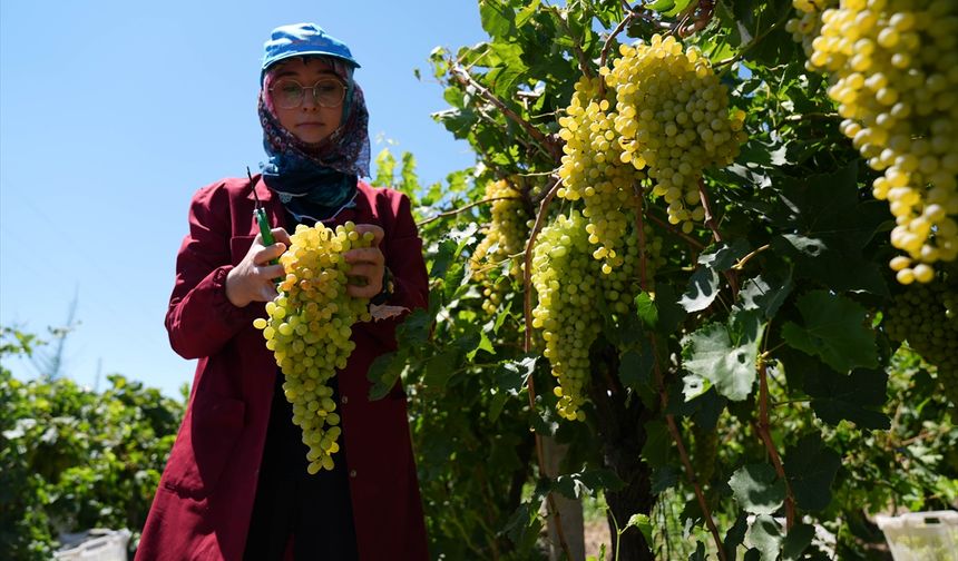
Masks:
[[[272,96],[273,110],[283,128],[292,132],[300,140],[309,144],[321,142],[339,128],[343,115],[342,102],[336,105],[336,107],[323,107],[316,104],[315,94],[319,92],[309,89],[314,85],[319,85],[319,88],[328,91],[331,82],[323,82],[323,80],[330,79],[336,80],[340,86],[342,85],[342,80],[325,61],[316,58],[296,57],[280,62],[271,72],[273,75],[271,82],[272,91],[268,95]],[[284,105],[281,102],[283,94],[280,91],[280,88],[289,90],[290,83],[287,80],[294,80],[303,88],[306,88],[303,91],[302,104],[297,107],[282,107]]]

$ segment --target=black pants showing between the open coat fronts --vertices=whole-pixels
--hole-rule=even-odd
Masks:
[[[292,537],[296,561],[358,560],[343,437],[332,471],[306,473],[309,447],[293,424],[293,406],[282,384],[283,374],[277,372],[244,559],[280,561]],[[331,386],[339,403],[335,378]]]

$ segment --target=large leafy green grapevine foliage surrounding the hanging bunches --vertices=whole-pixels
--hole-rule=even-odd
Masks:
[[[432,509],[448,499],[424,485],[430,530],[449,537],[436,539],[433,551],[535,558],[544,524],[537,501],[549,490],[577,495],[574,482],[603,469],[623,483],[599,482],[613,518],[648,516],[651,553],[667,559],[716,555],[706,516],[729,559],[863,559],[881,538],[870,513],[956,505],[958,454],[949,451],[958,436],[936,392],[935,367],[907,347],[896,353],[881,324],[900,287],[886,265],[893,220],[871,196],[876,173],[839,131],[828,82],[805,70],[801,46],[784,31],[791,1],[708,3],[713,11],[695,1],[638,4],[605,49],[626,17],[622,2],[481,0],[489,39],[432,52],[449,104],[434,118],[470,144],[477,166],[448,186],[418,190],[430,309],[411,318],[400,351],[371,377],[382,388],[402,376],[413,403],[432,404],[416,430],[423,450],[440,447],[434,456],[420,451],[423,480],[466,493],[443,512],[454,521],[446,523]],[[614,60],[619,43],[680,28],[692,31],[683,42],[712,61],[730,105],[745,112],[749,140],[732,165],[705,173],[712,227],[681,236],[661,227],[659,199],[644,200],[639,219],[661,237],[663,263],[641,289],[627,288],[635,303],[627,314],[600,311],[587,421],[570,425],[551,409],[554,381],[542,375],[548,361],[535,333],[525,350],[524,298],[535,294],[511,278],[495,314],[480,307],[467,257],[489,224],[485,185],[521,184],[528,218],[536,219],[561,156],[557,119],[573,85],[597,76],[604,53]],[[546,225],[571,209],[578,203],[555,199],[538,218]],[[430,415],[441,421],[428,424]],[[535,454],[521,447],[532,446],[530,427],[571,445],[559,478],[547,484]],[[468,434],[468,444],[447,429]],[[707,434],[718,444],[717,459],[698,468],[705,513],[682,456],[691,450],[695,460],[690,443]],[[510,501],[490,508],[488,491],[467,482],[478,466],[458,460],[507,436],[517,449],[500,471],[520,474],[536,491],[518,499],[506,484],[498,495]],[[624,456],[642,462],[626,465]],[[456,475],[440,475],[433,462],[449,457],[457,459]],[[482,505],[481,523],[465,514],[470,502]],[[784,520],[789,504],[795,521]],[[813,543],[815,524],[837,543]],[[613,535],[615,554],[644,559],[629,533]]]

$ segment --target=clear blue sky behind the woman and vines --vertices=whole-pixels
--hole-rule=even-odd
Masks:
[[[45,334],[76,294],[68,375],[92,386],[100,372],[102,387],[121,373],[170,395],[192,381],[163,327],[189,198],[263,159],[262,45],[296,21],[361,62],[373,156],[377,138],[398,142],[426,183],[472,164],[429,117],[444,102],[427,59],[483,40],[475,1],[3,0],[0,324]]]

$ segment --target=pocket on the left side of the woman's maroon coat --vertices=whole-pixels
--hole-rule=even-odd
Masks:
[[[217,394],[197,395],[167,463],[165,485],[186,496],[208,496],[231,462],[243,432],[246,404]]]

